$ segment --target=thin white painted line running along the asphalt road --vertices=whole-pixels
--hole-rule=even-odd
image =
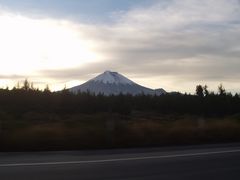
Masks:
[[[84,160],[84,161],[10,163],[10,164],[0,164],[0,167],[105,163],[105,162],[135,161],[135,160],[147,160],[147,159],[164,159],[164,158],[175,158],[175,157],[205,156],[205,155],[226,154],[226,153],[236,153],[236,152],[240,152],[240,149],[224,150],[224,151],[212,151],[212,152],[188,153],[188,154],[173,154],[173,155],[161,155],[161,156],[129,157],[129,158],[116,158],[116,159]]]

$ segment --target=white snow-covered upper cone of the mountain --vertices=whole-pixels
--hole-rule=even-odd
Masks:
[[[102,82],[104,84],[134,84],[133,81],[117,72],[105,71],[91,81]]]

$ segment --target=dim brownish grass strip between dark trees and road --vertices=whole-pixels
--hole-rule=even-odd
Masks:
[[[240,115],[201,117],[133,112],[0,113],[0,151],[78,150],[240,141]]]

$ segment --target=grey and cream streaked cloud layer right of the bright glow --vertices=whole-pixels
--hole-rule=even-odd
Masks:
[[[39,76],[84,81],[108,69],[152,88],[189,92],[199,82],[222,82],[240,91],[239,0],[154,2],[116,13],[110,24],[72,22],[100,60]]]

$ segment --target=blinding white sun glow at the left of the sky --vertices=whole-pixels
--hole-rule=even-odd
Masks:
[[[2,76],[34,77],[42,70],[82,66],[99,60],[93,48],[71,22],[0,13]]]

